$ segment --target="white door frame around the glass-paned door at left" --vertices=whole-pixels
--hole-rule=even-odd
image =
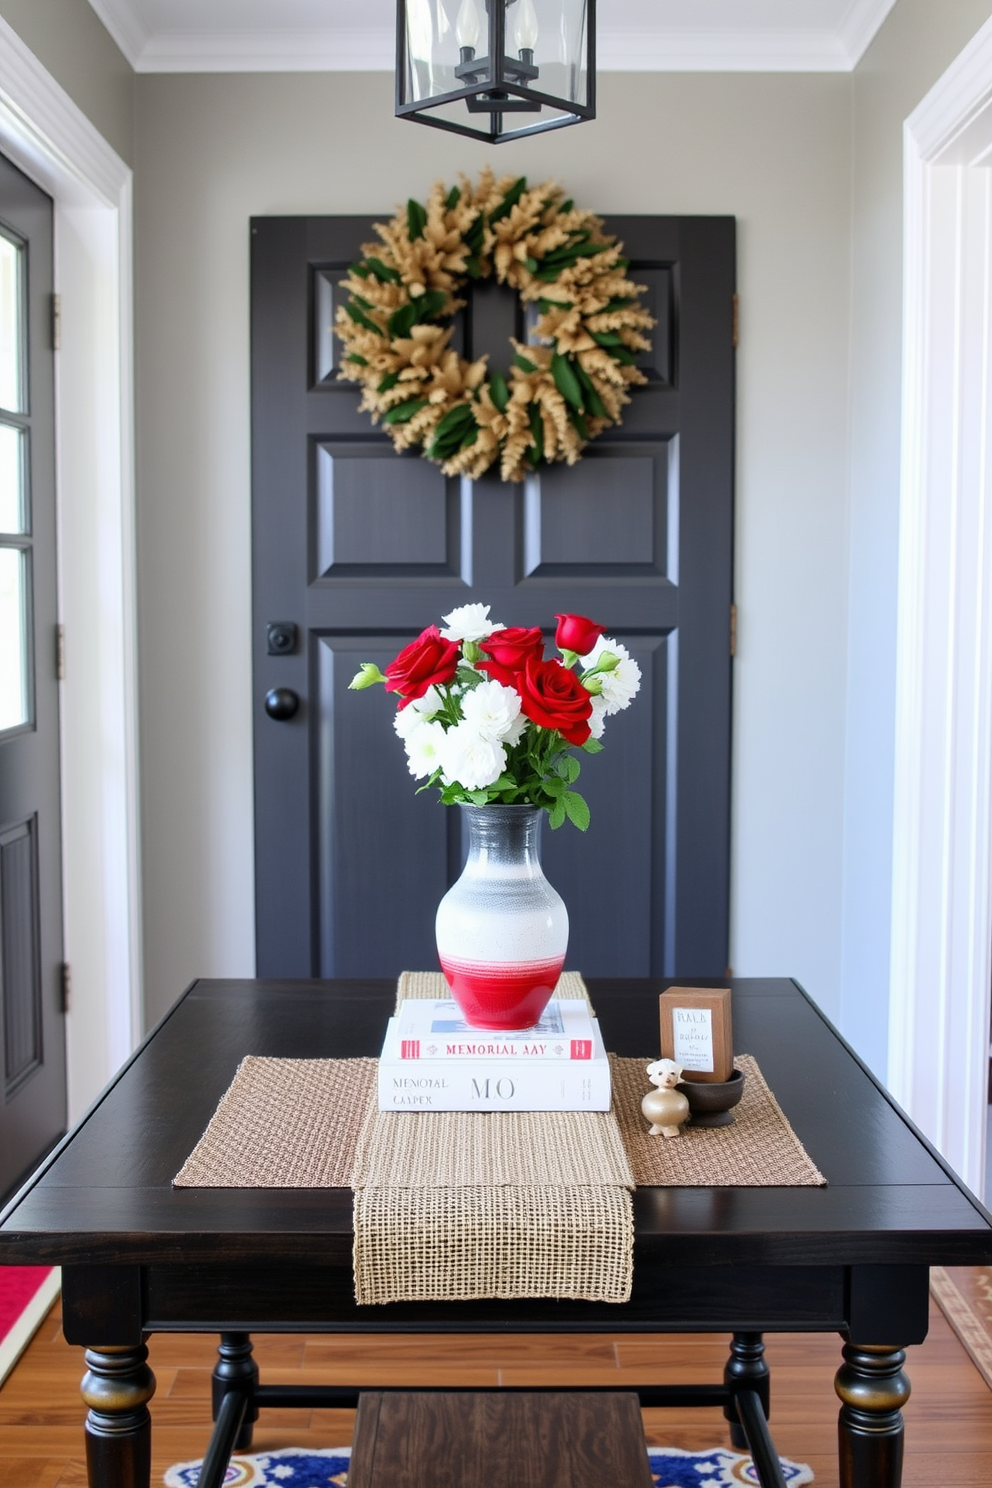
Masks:
[[[76,1117],[141,1031],[131,171],[1,18],[0,150],[55,201],[62,882]]]

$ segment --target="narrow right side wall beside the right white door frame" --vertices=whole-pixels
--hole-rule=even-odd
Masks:
[[[903,121],[991,15],[991,0],[898,0],[854,73],[842,1022],[877,1070],[892,878]]]

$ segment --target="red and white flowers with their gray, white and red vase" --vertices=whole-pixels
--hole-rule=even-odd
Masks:
[[[595,754],[605,720],[626,708],[641,671],[584,615],[558,615],[559,656],[538,626],[497,625],[464,604],[430,625],[381,673],[351,686],[397,693],[394,728],[421,790],[436,786],[468,821],[468,860],[437,909],[437,954],[477,1028],[531,1028],[568,945],[568,912],[540,865],[540,823],[589,826],[576,750]]]

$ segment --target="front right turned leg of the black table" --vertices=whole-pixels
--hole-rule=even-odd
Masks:
[[[834,1390],[840,1488],[900,1488],[903,1411],[909,1400],[906,1351],[877,1344],[845,1344]]]

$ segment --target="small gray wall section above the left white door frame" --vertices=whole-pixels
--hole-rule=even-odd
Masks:
[[[134,73],[86,0],[0,0],[25,42],[120,159],[134,164]]]

